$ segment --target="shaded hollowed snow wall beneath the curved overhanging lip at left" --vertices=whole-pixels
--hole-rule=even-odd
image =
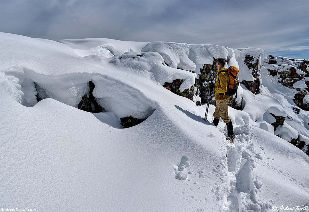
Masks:
[[[106,80],[104,77],[86,74],[47,77],[25,68],[11,69],[2,72],[2,75],[3,88],[20,104],[29,107],[37,103],[36,96],[40,100],[52,98],[77,107],[82,97],[89,95],[88,82],[92,80],[96,85],[93,95],[98,104],[105,111],[113,111],[119,118],[133,116],[144,119],[149,117],[155,108],[155,104],[143,98],[143,94],[135,88],[119,81]]]

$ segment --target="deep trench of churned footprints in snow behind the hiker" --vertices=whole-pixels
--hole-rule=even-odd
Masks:
[[[251,171],[256,168],[256,159],[262,159],[260,153],[256,153],[255,144],[252,142],[253,129],[247,124],[236,127],[234,132],[234,142],[232,145],[227,144],[230,184],[224,211],[267,211],[271,204],[256,198],[256,192],[262,185],[251,176]]]

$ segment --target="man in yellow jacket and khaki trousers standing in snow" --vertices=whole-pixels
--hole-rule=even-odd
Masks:
[[[230,96],[226,94],[227,92],[227,83],[228,83],[228,74],[225,71],[226,68],[224,67],[224,64],[226,63],[226,60],[223,58],[219,58],[217,60],[217,68],[218,72],[216,84],[213,85],[214,87],[214,99],[216,100],[216,109],[214,111],[214,120],[213,124],[215,126],[218,126],[219,119],[224,121],[226,123],[227,128],[227,139],[233,140],[234,138],[234,132],[233,132],[233,124],[229,117],[229,111],[228,111],[228,104],[230,100]],[[210,88],[211,90],[213,88]]]

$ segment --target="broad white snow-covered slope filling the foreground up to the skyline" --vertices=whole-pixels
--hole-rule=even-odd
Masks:
[[[269,86],[268,102],[264,92],[239,88],[245,105],[230,109],[233,144],[222,122],[216,128],[201,118],[205,105],[162,86],[181,79],[180,90],[190,88],[195,75],[176,68],[198,70],[222,55],[237,66],[239,50],[0,35],[2,208],[272,211],[309,205],[309,157],[269,127],[266,111],[289,114]],[[106,112],[75,108],[90,80]],[[38,92],[45,99],[37,103]],[[253,110],[254,100],[263,105]],[[210,105],[209,116],[213,111]],[[147,119],[123,129],[125,116]]]

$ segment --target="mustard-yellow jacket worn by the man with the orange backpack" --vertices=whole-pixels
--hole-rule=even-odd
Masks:
[[[217,80],[216,80],[216,85],[214,87],[214,92],[215,92],[214,99],[215,100],[226,100],[230,97],[228,94],[225,94],[225,92],[227,92],[227,82],[228,82],[229,76],[227,75],[227,72],[224,70],[226,70],[225,67],[221,68],[216,73]],[[219,83],[218,78],[220,78],[220,83]]]

